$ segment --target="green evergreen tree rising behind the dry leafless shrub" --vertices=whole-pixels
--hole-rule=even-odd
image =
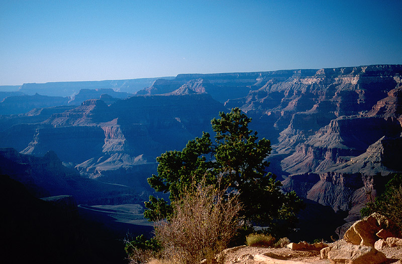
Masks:
[[[175,202],[192,182],[204,179],[205,184],[239,194],[240,217],[246,226],[264,226],[271,233],[291,227],[303,203],[294,192],[281,192],[280,181],[265,171],[270,141],[258,140],[257,132],[248,128],[251,118],[239,108],[219,115],[211,121],[215,144],[209,133],[203,133],[182,151],[163,153],[157,158],[158,174],[148,179],[149,184],[156,191],[169,192],[170,201]],[[144,214],[152,221],[168,218],[173,212],[167,201],[153,196],[145,206]]]

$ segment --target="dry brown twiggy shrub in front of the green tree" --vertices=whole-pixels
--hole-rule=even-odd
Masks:
[[[236,196],[228,198],[214,186],[197,186],[185,191],[174,203],[174,216],[155,226],[166,257],[180,263],[198,263],[226,247],[238,226],[241,208]],[[194,190],[195,189],[195,190]]]

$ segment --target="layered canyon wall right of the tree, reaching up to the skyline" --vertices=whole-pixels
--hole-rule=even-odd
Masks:
[[[246,96],[219,101],[241,107],[260,136],[276,143],[269,159],[280,162],[274,173],[289,176],[284,189],[351,211],[347,220],[356,220],[365,190],[375,194],[387,175],[400,171],[401,74],[401,65],[184,74],[157,93],[215,92],[218,98],[227,88],[248,89]]]

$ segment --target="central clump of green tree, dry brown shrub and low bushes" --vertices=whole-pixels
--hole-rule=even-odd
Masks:
[[[211,121],[214,143],[204,132],[182,151],[163,153],[156,159],[157,175],[148,178],[155,191],[169,193],[169,201],[150,196],[145,202],[144,216],[156,222],[153,239],[161,247],[161,259],[215,262],[217,253],[243,243],[256,224],[272,235],[254,234],[247,243],[273,246],[274,236],[291,230],[304,205],[294,191],[283,193],[281,182],[266,172],[270,141],[248,129],[251,118],[239,108],[219,116]],[[156,253],[154,243],[136,240],[126,247],[132,256]]]

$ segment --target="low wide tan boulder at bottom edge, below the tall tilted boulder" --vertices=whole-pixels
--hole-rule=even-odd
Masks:
[[[332,263],[379,264],[386,260],[386,256],[371,246],[338,244],[328,252],[328,259]]]

